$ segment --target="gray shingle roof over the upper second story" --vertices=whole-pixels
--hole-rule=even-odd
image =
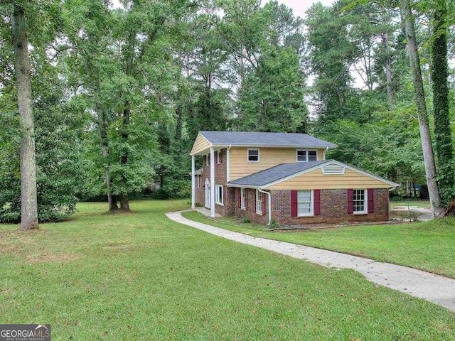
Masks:
[[[247,131],[200,131],[200,134],[212,144],[225,146],[336,147],[336,144],[316,139],[316,137],[307,134]]]

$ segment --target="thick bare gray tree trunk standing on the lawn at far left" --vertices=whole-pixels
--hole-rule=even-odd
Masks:
[[[17,77],[18,109],[21,115],[21,227],[38,229],[36,198],[35,128],[31,98],[31,70],[28,59],[26,18],[22,6],[14,5],[11,16],[14,69]]]

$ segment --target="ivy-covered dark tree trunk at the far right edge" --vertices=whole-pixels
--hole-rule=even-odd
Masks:
[[[434,138],[442,205],[453,210],[454,151],[449,119],[449,65],[447,62],[447,9],[445,0],[434,1],[432,80],[434,106]]]

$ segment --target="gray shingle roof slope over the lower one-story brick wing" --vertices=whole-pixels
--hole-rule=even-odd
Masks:
[[[301,171],[306,171],[309,168],[322,165],[323,163],[327,163],[329,161],[331,160],[281,163],[278,166],[267,168],[264,171],[247,175],[237,180],[232,180],[229,182],[229,184],[260,187],[263,185],[267,185],[267,183],[273,183],[274,181],[286,178],[290,175],[294,175]]]

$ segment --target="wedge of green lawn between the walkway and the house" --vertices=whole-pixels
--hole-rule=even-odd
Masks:
[[[455,278],[454,217],[412,224],[357,225],[277,232],[267,230],[264,225],[244,224],[230,217],[213,220],[199,212],[184,212],[183,216],[256,237],[340,251]]]

